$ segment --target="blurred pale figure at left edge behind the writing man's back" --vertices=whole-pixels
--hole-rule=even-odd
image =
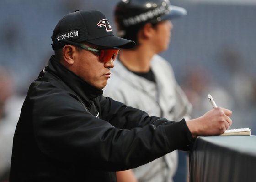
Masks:
[[[0,66],[0,182],[9,180],[13,135],[23,101],[15,94],[10,72]]]

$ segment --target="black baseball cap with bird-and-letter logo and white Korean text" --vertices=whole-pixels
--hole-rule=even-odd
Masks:
[[[133,48],[135,42],[114,36],[112,27],[100,11],[77,10],[65,15],[53,30],[53,50],[68,43],[59,39],[79,43],[82,41],[104,47]]]

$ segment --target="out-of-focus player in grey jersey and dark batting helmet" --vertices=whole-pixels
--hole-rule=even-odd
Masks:
[[[169,62],[158,55],[168,49],[173,28],[170,20],[184,15],[187,11],[171,6],[169,0],[117,3],[114,12],[117,35],[135,41],[136,46],[119,52],[104,96],[146,111],[150,116],[173,121],[190,118],[191,104],[177,84]],[[177,167],[178,152],[173,151],[133,172],[139,182],[172,182]],[[117,179],[118,176],[134,179],[133,172],[117,172]],[[121,181],[131,179],[123,177]]]

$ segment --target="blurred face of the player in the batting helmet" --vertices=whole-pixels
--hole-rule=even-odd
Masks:
[[[165,51],[168,49],[170,39],[171,39],[171,30],[173,25],[170,20],[161,21],[157,24],[155,28],[155,47],[157,52]]]

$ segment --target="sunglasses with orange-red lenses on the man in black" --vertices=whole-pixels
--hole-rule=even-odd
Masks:
[[[106,63],[108,62],[111,58],[113,59],[113,61],[116,59],[117,57],[117,53],[119,51],[119,49],[93,49],[91,47],[87,47],[85,45],[82,44],[78,44],[75,42],[71,42],[68,40],[63,40],[63,39],[59,39],[60,41],[66,42],[68,44],[72,44],[72,45],[76,45],[79,47],[82,47],[86,50],[90,50],[90,51],[94,51],[94,52],[98,52],[100,54],[99,59],[102,63]]]

